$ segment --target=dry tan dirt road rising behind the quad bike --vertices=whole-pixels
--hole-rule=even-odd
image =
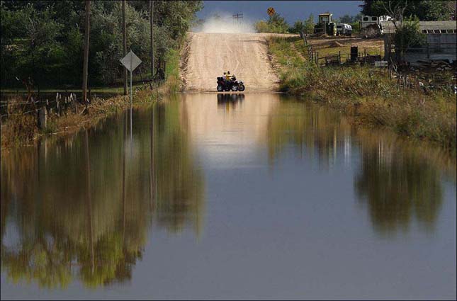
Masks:
[[[244,81],[246,93],[276,91],[278,76],[267,56],[266,35],[258,33],[188,33],[181,62],[185,91],[216,91],[216,77],[230,70]]]

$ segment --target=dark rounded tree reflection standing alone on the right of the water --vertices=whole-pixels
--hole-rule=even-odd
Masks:
[[[424,159],[426,149],[379,138],[373,141],[372,135],[363,142],[355,187],[368,204],[374,227],[384,233],[407,229],[415,217],[432,229],[442,202],[440,164]]]

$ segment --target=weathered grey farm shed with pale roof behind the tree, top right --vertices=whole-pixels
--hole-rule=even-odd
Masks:
[[[393,21],[383,21],[381,28],[383,28],[385,59],[389,60],[395,55],[393,45],[395,25]],[[419,30],[427,36],[427,42],[420,47],[407,50],[406,62],[434,59],[457,60],[456,21],[419,21]]]

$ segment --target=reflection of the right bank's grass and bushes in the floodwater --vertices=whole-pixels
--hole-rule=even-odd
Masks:
[[[356,195],[368,205],[373,227],[381,234],[405,230],[413,220],[427,231],[433,229],[443,197],[441,175],[454,182],[456,178],[456,161],[443,150],[385,132],[355,132],[339,113],[309,101],[285,99],[276,106],[269,115],[266,141],[271,162],[289,145],[310,159],[317,154],[321,168],[339,159],[349,165],[357,149]]]

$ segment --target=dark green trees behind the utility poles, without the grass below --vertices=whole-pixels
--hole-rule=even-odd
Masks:
[[[85,1],[1,1],[1,89],[81,88]],[[202,1],[154,1],[154,64],[186,37]],[[122,1],[92,1],[89,86],[122,86]],[[137,80],[150,79],[149,1],[125,1],[127,51],[142,64]],[[16,79],[17,78],[17,79]]]

